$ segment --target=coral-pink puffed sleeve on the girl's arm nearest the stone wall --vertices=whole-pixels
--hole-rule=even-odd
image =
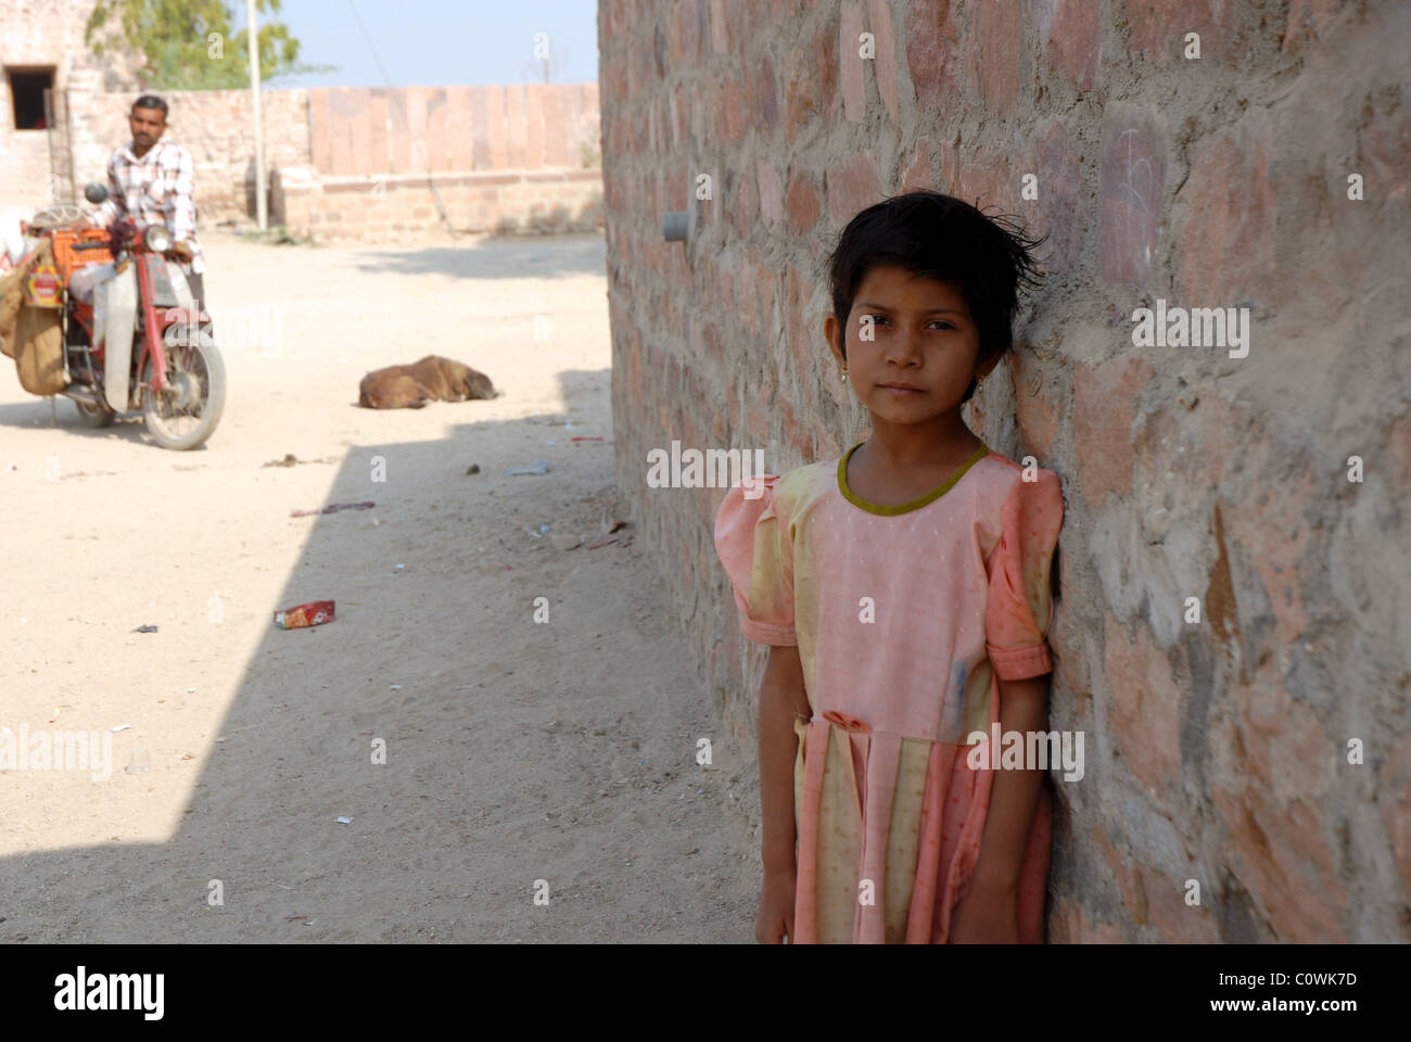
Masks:
[[[1040,470],[1037,480],[1019,479],[1000,511],[1000,537],[989,555],[985,603],[985,648],[1002,681],[1026,681],[1053,671],[1048,587],[1054,546],[1062,525],[1058,476]]]

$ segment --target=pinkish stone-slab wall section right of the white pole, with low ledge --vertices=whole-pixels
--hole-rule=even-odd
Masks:
[[[597,83],[309,93],[312,168],[277,220],[316,239],[584,232],[602,224]]]

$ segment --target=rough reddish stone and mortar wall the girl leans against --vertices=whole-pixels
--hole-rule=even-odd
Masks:
[[[1051,236],[972,414],[1067,497],[1053,726],[1086,777],[1051,939],[1411,939],[1411,8],[602,0],[598,28],[618,479],[744,755],[722,493],[648,489],[646,452],[783,472],[865,436],[820,261],[883,195],[981,199]],[[1247,356],[1134,346],[1158,298],[1247,306]]]

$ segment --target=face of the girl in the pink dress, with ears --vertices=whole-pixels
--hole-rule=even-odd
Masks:
[[[900,265],[868,271],[841,332],[844,345],[830,315],[828,343],[848,367],[854,393],[890,424],[921,424],[959,408],[982,361],[979,328],[959,289]],[[993,361],[981,364],[979,374],[991,369]]]

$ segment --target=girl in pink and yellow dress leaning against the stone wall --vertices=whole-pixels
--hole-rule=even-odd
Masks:
[[[1062,497],[961,418],[1034,246],[935,192],[856,215],[824,335],[872,436],[721,504],[741,630],[770,645],[761,942],[1043,939],[1047,778],[979,737],[1047,730]]]

